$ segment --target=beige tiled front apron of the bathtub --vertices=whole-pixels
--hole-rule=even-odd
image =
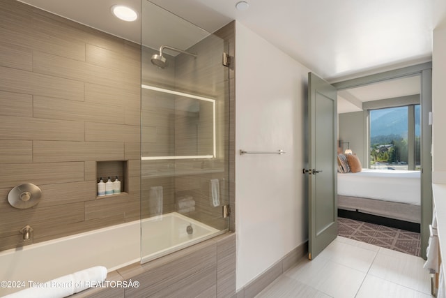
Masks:
[[[222,234],[107,275],[107,281],[130,280],[139,287],[91,288],[73,297],[236,297],[236,234]]]

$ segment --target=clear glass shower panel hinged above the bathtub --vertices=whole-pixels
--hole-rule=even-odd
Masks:
[[[228,230],[228,50],[141,1],[141,262]]]

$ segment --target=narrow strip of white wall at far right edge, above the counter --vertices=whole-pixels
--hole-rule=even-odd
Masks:
[[[433,177],[446,184],[446,22],[433,30],[432,54]]]

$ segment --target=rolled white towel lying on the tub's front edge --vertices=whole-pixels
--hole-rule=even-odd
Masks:
[[[91,287],[100,285],[107,277],[107,268],[96,266],[89,269],[77,271],[38,284],[36,288],[27,288],[4,297],[8,298],[63,298]]]

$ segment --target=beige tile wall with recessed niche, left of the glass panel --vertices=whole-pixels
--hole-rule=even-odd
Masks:
[[[27,224],[31,244],[137,220],[139,45],[15,0],[0,6],[0,250],[22,246]],[[96,198],[98,161],[125,161],[126,193]],[[22,183],[42,189],[36,207],[8,204]]]

